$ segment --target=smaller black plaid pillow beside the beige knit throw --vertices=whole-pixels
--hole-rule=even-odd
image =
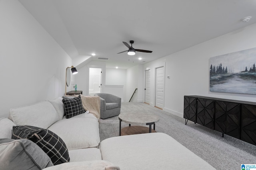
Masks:
[[[62,102],[67,119],[85,112],[80,95],[72,99],[63,98]]]

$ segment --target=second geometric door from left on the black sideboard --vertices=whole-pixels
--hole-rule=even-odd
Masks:
[[[214,100],[198,98],[196,120],[198,124],[214,129]]]

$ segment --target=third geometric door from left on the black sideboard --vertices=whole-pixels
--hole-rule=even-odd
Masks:
[[[240,139],[240,103],[215,100],[215,130]]]

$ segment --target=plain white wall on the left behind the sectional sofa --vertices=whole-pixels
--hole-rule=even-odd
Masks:
[[[63,96],[71,58],[17,0],[0,1],[0,117]]]

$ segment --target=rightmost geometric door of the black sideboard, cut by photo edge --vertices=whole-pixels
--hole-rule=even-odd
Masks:
[[[241,140],[256,145],[256,106],[242,104]]]

